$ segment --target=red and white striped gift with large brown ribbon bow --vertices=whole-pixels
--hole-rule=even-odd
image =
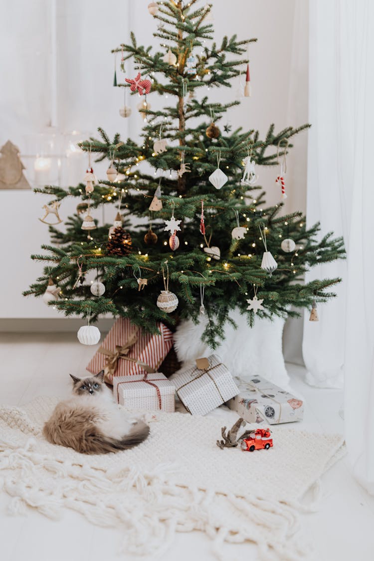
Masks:
[[[155,372],[173,344],[170,329],[162,323],[158,324],[158,329],[160,333],[152,335],[127,318],[117,319],[87,370],[97,374],[104,369],[105,381],[110,384],[116,376]]]

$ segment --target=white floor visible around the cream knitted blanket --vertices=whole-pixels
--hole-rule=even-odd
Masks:
[[[69,373],[85,373],[95,347],[84,347],[70,333],[0,334],[2,403],[22,405],[41,394],[65,397]],[[303,382],[304,369],[288,365],[291,385],[304,398],[302,423],[295,428],[342,432],[339,390],[321,390]],[[67,511],[54,522],[37,512],[25,517],[7,514],[8,496],[0,494],[1,561],[117,561],[118,534],[112,528],[90,525]],[[322,478],[322,500],[318,513],[302,515],[302,531],[315,547],[317,561],[372,561],[374,559],[374,497],[352,479],[347,457]],[[251,544],[225,545],[230,561],[257,559]],[[201,532],[179,534],[164,561],[215,559],[210,541]],[[280,560],[281,561],[281,560]]]

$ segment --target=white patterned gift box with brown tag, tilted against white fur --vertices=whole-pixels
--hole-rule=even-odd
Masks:
[[[205,365],[199,362],[202,360],[206,361]],[[200,367],[195,365],[179,371],[169,380],[175,385],[177,396],[191,415],[206,415],[236,396],[239,390],[218,356],[198,359],[197,364]]]

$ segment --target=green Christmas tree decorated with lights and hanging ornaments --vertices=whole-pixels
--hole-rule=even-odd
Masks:
[[[210,103],[202,92],[206,86],[230,87],[244,72],[243,95],[250,95],[246,53],[256,39],[234,35],[220,45],[212,42],[210,10],[211,4],[199,7],[197,0],[152,2],[149,12],[158,23],[154,36],[163,50],[138,45],[133,34],[130,43],[113,50],[121,53],[126,70],[124,80],[116,75],[115,85],[130,88],[137,99],[141,95],[142,141],[122,141],[118,134],[110,140],[99,128],[100,139],[91,137],[81,148],[95,154],[96,162],[108,159],[108,180],[95,184],[89,168],[86,184],[35,191],[57,201],[78,197],[86,201],[88,214],[90,208],[116,201],[124,224],[117,216],[111,229],[115,240],[109,243],[110,224],[93,225],[90,215],[83,223],[81,213],[69,217],[63,232],[50,227],[52,245],[42,246],[47,253],[32,256],[48,266],[25,295],[43,295],[52,278],[61,297],[51,305],[66,315],[95,320],[110,312],[151,332],[160,320],[173,326],[180,319],[204,317],[203,338],[211,347],[236,307],[252,326],[256,314],[297,316],[294,307],[312,309],[315,301],[335,296],[331,287],[340,279],[305,284],[303,275],[318,263],[344,257],[343,240],[326,233],[318,241],[319,224],[307,228],[302,213],[282,214],[284,174],[278,167],[279,204],[266,208],[265,192],[255,184],[260,166],[282,161],[291,139],[309,125],[280,132],[271,125],[265,139],[255,130],[231,132],[222,126],[223,116],[239,100]],[[135,65],[131,75],[129,59]],[[168,104],[152,111],[149,99],[158,94],[167,95]],[[129,113],[121,109],[123,117]],[[132,227],[132,217],[142,218],[142,225]],[[122,237],[118,228],[131,237]],[[113,251],[122,239],[130,240],[126,250]],[[84,278],[90,270],[105,285],[104,296],[93,296],[89,284],[75,288],[79,271]],[[141,291],[140,278],[146,279]],[[175,296],[158,302],[165,289],[178,298],[175,310]]]

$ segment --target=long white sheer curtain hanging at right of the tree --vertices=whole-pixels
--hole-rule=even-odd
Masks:
[[[374,493],[374,3],[310,2],[308,222],[343,234],[348,259],[307,280],[341,276],[339,297],[304,322],[308,381],[344,374],[345,436],[355,475]]]

